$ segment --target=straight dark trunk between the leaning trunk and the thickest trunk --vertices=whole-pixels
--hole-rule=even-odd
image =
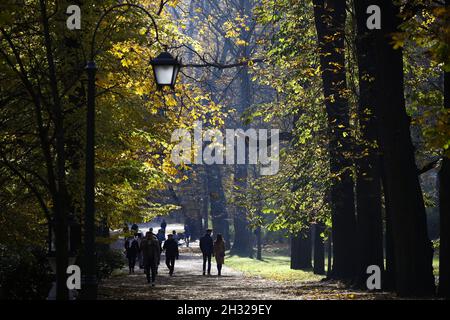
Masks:
[[[365,286],[367,267],[377,265],[384,269],[383,220],[381,215],[380,157],[377,148],[375,118],[376,74],[375,34],[366,26],[370,0],[355,1],[358,35],[356,40],[359,69],[358,120],[360,145],[356,166],[356,211],[358,229],[359,274],[357,283]]]

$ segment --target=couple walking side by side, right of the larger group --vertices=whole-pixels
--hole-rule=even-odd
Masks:
[[[203,253],[203,275],[206,275],[206,263],[208,263],[208,276],[211,275],[211,256],[216,258],[217,275],[222,275],[222,265],[225,263],[225,243],[221,234],[213,241],[212,230],[206,230],[206,234],[200,239],[200,250]]]

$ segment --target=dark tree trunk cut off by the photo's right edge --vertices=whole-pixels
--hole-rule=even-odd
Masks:
[[[449,1],[447,0],[447,3]],[[444,74],[444,106],[450,108],[450,72]],[[447,151],[448,152],[448,151]],[[439,289],[440,296],[450,298],[450,158],[444,156],[439,172],[440,248]]]

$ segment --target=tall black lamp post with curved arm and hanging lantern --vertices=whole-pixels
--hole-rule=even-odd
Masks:
[[[85,177],[85,216],[84,216],[84,267],[82,269],[82,298],[94,300],[97,297],[97,272],[95,250],[95,78],[97,65],[95,63],[95,37],[103,19],[111,12],[122,7],[138,9],[144,12],[151,20],[156,41],[159,42],[158,28],[152,15],[143,7],[123,3],[110,7],[97,22],[91,40],[90,61],[86,65],[88,76],[87,113],[86,113],[86,177]],[[155,81],[159,89],[163,86],[175,85],[181,64],[167,52],[161,53],[151,61]]]

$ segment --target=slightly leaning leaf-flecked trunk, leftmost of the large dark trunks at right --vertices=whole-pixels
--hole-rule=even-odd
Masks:
[[[313,0],[320,47],[320,66],[328,115],[330,170],[336,178],[330,190],[333,225],[332,278],[353,279],[357,272],[355,254],[356,218],[351,176],[349,104],[346,97],[344,53],[345,1]]]

